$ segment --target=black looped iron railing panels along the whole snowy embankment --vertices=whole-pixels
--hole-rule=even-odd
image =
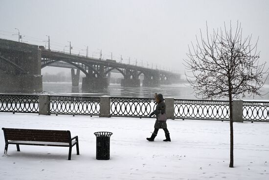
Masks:
[[[102,97],[49,96],[48,114],[100,115]],[[156,102],[148,98],[110,98],[110,116],[148,117]],[[107,104],[105,104],[107,105]],[[0,112],[39,113],[38,95],[0,94]],[[243,101],[243,120],[269,122],[269,102]],[[229,120],[228,101],[174,100],[175,119]]]

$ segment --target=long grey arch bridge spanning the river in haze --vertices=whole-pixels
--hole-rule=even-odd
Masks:
[[[86,75],[82,81],[83,89],[106,88],[112,71],[121,73],[121,85],[129,87],[140,86],[140,75],[144,76],[143,86],[159,86],[180,80],[179,74],[169,71],[40,49],[36,45],[0,39],[0,83],[7,84],[5,88],[0,88],[0,92],[18,91],[18,84],[21,84],[19,86],[23,92],[27,92],[27,89],[29,92],[42,91],[41,69],[46,66],[72,68],[73,85],[78,85],[79,74],[83,72]],[[73,68],[77,69],[76,74]]]

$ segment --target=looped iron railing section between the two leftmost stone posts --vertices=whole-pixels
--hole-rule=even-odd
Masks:
[[[99,97],[50,96],[49,114],[99,115]]]

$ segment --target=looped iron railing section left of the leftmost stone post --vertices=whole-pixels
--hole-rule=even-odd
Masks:
[[[0,112],[38,113],[38,95],[0,95]]]

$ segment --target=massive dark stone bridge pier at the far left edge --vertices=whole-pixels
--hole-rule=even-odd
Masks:
[[[37,45],[0,39],[0,92],[41,92],[41,50]]]

